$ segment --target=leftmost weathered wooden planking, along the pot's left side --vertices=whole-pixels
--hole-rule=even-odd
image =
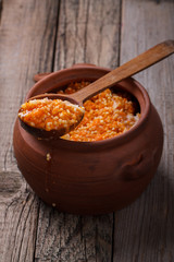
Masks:
[[[38,206],[13,156],[20,104],[37,71],[50,71],[59,1],[5,0],[0,21],[0,261],[33,261]]]

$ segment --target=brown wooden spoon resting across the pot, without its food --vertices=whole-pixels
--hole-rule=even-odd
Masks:
[[[174,40],[166,40],[140,53],[136,58],[124,63],[120,68],[114,69],[110,73],[105,74],[104,76],[92,82],[91,84],[89,84],[88,86],[86,86],[85,88],[76,93],[73,93],[70,95],[41,94],[36,97],[32,97],[30,99],[36,99],[36,98],[41,99],[41,98],[48,97],[50,99],[57,98],[57,99],[69,100],[73,104],[77,104],[78,106],[83,106],[84,102],[89,99],[94,95],[104,91],[108,87],[113,86],[117,82],[128,76],[132,76],[135,73],[142,71],[146,68],[149,68],[150,66],[161,61],[162,59],[166,58],[173,52],[174,52]],[[29,127],[28,129],[28,126],[25,122],[23,121],[21,122],[23,128],[25,128],[28,132],[32,132],[34,135],[37,135],[38,138],[42,138],[42,139],[48,139],[48,138],[55,139],[69,132],[73,128],[75,128],[75,126],[73,126],[73,127],[70,127],[67,130],[46,131],[46,130],[37,130],[36,128],[32,128],[32,127]]]

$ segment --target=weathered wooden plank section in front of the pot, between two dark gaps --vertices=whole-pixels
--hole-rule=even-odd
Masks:
[[[40,205],[36,261],[111,261],[112,215],[75,216]]]

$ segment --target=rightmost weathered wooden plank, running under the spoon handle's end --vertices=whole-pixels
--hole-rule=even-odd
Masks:
[[[123,0],[121,63],[169,38],[174,39],[173,1]],[[164,127],[158,172],[132,206],[115,215],[113,261],[174,261],[174,56],[136,75],[148,90]]]

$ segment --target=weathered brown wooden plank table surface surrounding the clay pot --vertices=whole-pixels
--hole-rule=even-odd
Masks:
[[[87,62],[115,68],[174,39],[173,0],[0,1],[0,261],[174,261],[174,56],[137,74],[164,127],[158,171],[130,206],[59,213],[16,166],[13,126],[33,75]]]

